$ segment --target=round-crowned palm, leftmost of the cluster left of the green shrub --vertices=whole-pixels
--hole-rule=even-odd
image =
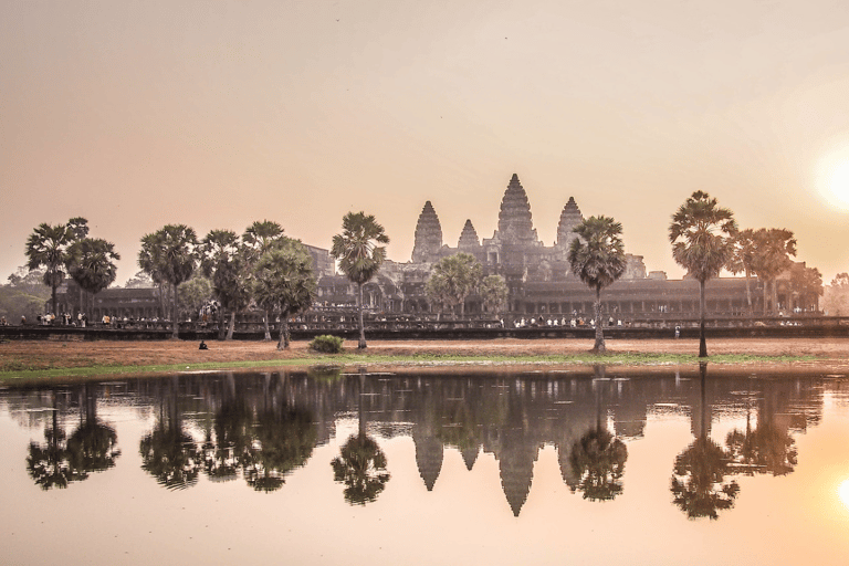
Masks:
[[[179,336],[177,286],[188,281],[198,263],[198,237],[185,224],[167,224],[142,238],[138,266],[158,284],[171,289],[171,337]]]

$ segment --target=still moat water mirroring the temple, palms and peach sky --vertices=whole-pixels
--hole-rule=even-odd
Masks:
[[[846,564],[849,378],[180,374],[0,390],[3,564]]]

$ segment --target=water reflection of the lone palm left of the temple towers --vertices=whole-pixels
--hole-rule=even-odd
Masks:
[[[363,410],[366,376],[359,374],[359,431],[348,438],[339,455],[331,462],[333,480],[345,484],[345,501],[352,505],[365,505],[377,500],[389,481],[386,471],[386,454],[374,439],[366,434],[366,418]]]

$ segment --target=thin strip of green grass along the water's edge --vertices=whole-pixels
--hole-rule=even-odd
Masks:
[[[56,378],[86,378],[86,377],[118,377],[134,374],[174,374],[199,373],[214,370],[249,370],[256,368],[297,368],[310,366],[405,366],[405,367],[450,367],[469,365],[494,366],[575,366],[593,367],[596,365],[608,366],[688,366],[698,365],[700,361],[723,365],[755,365],[755,364],[792,364],[797,361],[825,361],[815,356],[751,356],[741,354],[727,354],[699,358],[684,354],[643,354],[643,353],[615,353],[615,354],[583,354],[568,356],[455,356],[430,355],[416,356],[386,356],[368,354],[340,354],[316,355],[303,358],[239,360],[239,361],[208,361],[200,364],[163,364],[148,366],[108,366],[92,365],[82,367],[45,367],[32,369],[13,369],[0,371],[0,385],[12,385],[20,381],[51,381]]]

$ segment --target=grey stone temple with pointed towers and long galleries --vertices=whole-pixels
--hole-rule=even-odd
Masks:
[[[483,266],[484,275],[502,275],[509,286],[510,318],[544,321],[588,315],[593,292],[572,274],[567,252],[577,234],[573,229],[584,220],[573,197],[566,201],[557,226],[557,240],[545,245],[537,237],[525,189],[513,175],[501,201],[497,230],[481,239],[471,220],[457,244],[443,240],[436,208],[424,203],[416,224],[415,245],[408,263],[387,262],[380,274],[365,287],[368,305],[377,313],[422,314],[434,312],[424,294],[432,265],[458,252],[470,253]],[[690,317],[699,311],[699,284],[692,279],[669,280],[660,271],[647,272],[641,255],[627,254],[622,277],[602,293],[605,313],[617,321],[635,318]],[[754,311],[763,308],[763,284],[751,281]],[[354,287],[342,275],[325,275],[319,282],[319,301],[329,305],[354,304]],[[738,316],[747,311],[745,280],[717,277],[706,286],[708,308],[712,314]],[[784,308],[814,311],[817,296],[798,296],[789,276],[778,283],[778,301]],[[465,312],[482,313],[480,297],[467,300]]]

